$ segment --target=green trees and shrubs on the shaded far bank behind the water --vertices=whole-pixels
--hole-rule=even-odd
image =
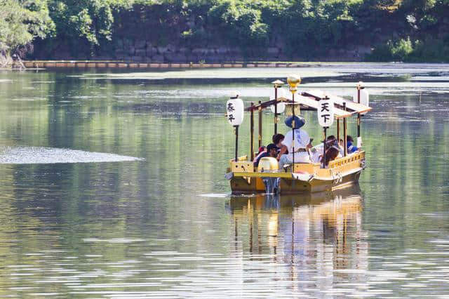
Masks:
[[[22,49],[30,58],[189,60],[213,49],[210,56],[231,60],[449,60],[449,0],[0,0],[0,7],[0,51]]]

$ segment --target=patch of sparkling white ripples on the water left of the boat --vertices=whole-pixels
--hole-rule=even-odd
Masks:
[[[0,147],[0,164],[56,164],[143,161],[145,159],[52,147]]]

